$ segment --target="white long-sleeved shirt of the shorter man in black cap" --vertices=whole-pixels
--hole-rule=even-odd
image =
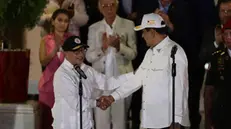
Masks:
[[[92,110],[96,102],[92,98],[94,88],[101,90],[113,90],[121,85],[119,82],[127,81],[129,74],[118,78],[110,78],[105,81],[105,76],[95,71],[92,67],[83,64],[81,69],[85,72],[87,79],[82,79],[83,98],[83,129],[93,127]],[[54,129],[80,129],[80,106],[79,106],[79,74],[73,65],[66,59],[54,75],[55,104],[52,108],[54,118]],[[106,87],[105,84],[111,84]],[[106,89],[107,88],[107,89]]]

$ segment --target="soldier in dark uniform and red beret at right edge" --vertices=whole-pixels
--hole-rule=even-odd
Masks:
[[[225,48],[214,52],[205,87],[206,129],[230,128],[231,20],[222,29]]]

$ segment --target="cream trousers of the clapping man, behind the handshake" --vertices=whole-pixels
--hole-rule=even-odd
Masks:
[[[125,99],[116,101],[105,111],[95,108],[94,116],[96,129],[125,129],[127,118]]]

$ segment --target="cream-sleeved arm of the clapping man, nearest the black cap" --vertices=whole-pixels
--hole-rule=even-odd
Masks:
[[[102,51],[102,48],[100,46],[97,46],[98,44],[102,44],[99,43],[100,41],[102,41],[100,40],[100,38],[102,37],[97,37],[97,36],[98,35],[96,34],[95,26],[90,26],[88,32],[88,40],[87,40],[87,44],[89,48],[86,52],[86,59],[90,63],[98,61],[104,56],[104,52]]]

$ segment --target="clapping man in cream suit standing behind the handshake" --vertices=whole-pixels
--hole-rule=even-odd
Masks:
[[[88,33],[89,49],[86,59],[98,72],[105,73],[105,62],[108,48],[115,49],[115,61],[119,74],[133,71],[131,61],[136,57],[136,35],[134,23],[116,14],[117,0],[99,0],[98,7],[104,19],[91,25]],[[95,91],[97,96],[109,95],[110,92]],[[95,109],[96,129],[124,129],[130,99],[120,100],[111,109]]]

